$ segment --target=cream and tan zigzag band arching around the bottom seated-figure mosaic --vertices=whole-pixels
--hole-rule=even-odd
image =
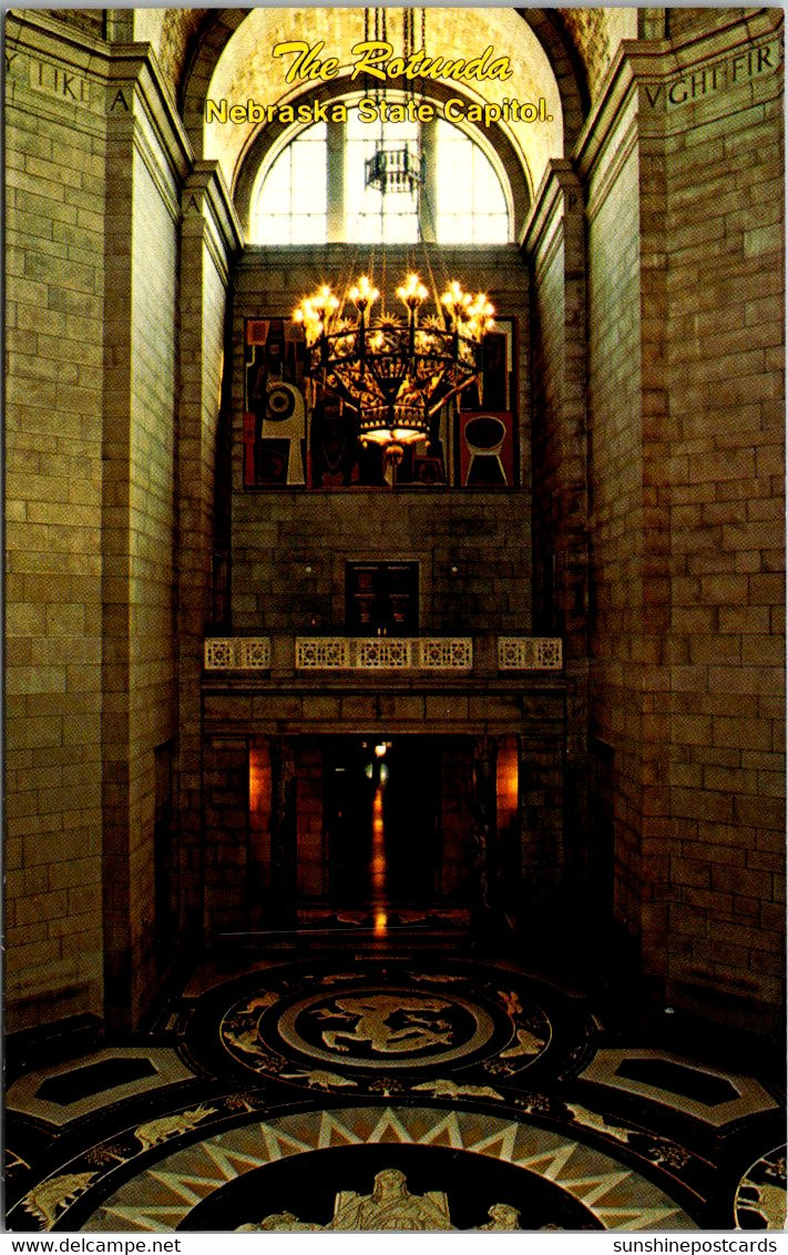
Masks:
[[[255,1119],[174,1150],[92,1209],[78,1231],[172,1232],[200,1201],[242,1173],[286,1156],[386,1142],[450,1147],[457,1153],[483,1155],[514,1165],[567,1191],[602,1229],[698,1227],[646,1177],[561,1133],[466,1109],[368,1106]],[[58,1181],[63,1190],[73,1183],[73,1177],[61,1176],[55,1183]],[[53,1196],[50,1188],[49,1197]],[[28,1195],[19,1206],[30,1209],[31,1205],[35,1206],[35,1200],[31,1204],[31,1195]],[[73,1230],[74,1226],[64,1222],[70,1206],[67,1204],[58,1215],[58,1229]]]

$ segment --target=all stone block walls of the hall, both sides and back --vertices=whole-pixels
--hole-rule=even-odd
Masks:
[[[650,38],[622,48],[635,10],[562,20],[594,100],[575,151],[550,164],[522,255],[440,254],[518,319],[522,487],[285,492],[241,484],[243,319],[289,318],[326,274],[360,265],[353,246],[247,250],[233,270],[230,197],[173,107],[200,13],[138,23],[167,82],[122,10],[9,18],[10,1029],[142,1013],[157,979],[157,750],[169,763],[172,747],[174,768],[174,931],[198,945],[206,887],[212,936],[260,924],[269,871],[276,892],[295,884],[286,740],[340,724],[522,737],[527,905],[565,891],[563,860],[577,892],[610,894],[617,954],[652,1007],[774,1027],[782,15],[649,11]],[[389,252],[389,274],[405,254]],[[478,641],[491,665],[467,690],[292,674],[203,688],[212,628],[271,634],[281,658],[284,635],[341,630],[344,562],[371,557],[422,562],[422,631],[555,633],[565,676],[550,693],[498,683]],[[250,830],[253,737],[274,750]],[[317,894],[310,778],[301,881]],[[444,873],[459,892],[457,832]]]

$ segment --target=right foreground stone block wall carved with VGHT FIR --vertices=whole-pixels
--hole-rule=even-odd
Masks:
[[[730,23],[734,15],[723,10],[720,28],[723,16]],[[666,924],[675,939],[669,983],[676,1004],[713,1014],[733,1008],[752,1027],[769,1025],[784,968],[777,21],[772,10],[748,40],[740,29],[723,29],[695,45],[664,113],[674,838]]]

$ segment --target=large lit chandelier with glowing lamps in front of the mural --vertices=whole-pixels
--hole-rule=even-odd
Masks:
[[[327,285],[305,296],[294,314],[306,336],[306,374],[358,414],[361,441],[402,459],[404,444],[433,438],[440,407],[478,379],[482,340],[493,325],[484,292],[457,280],[424,314],[427,287],[417,274],[397,289],[405,314],[373,306],[380,292],[368,275],[350,287],[355,315]]]

